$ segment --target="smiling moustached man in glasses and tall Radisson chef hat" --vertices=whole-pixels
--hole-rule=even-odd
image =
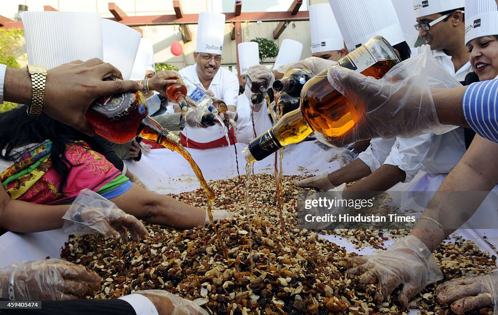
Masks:
[[[225,14],[200,12],[197,46],[194,52],[195,64],[183,68],[179,73],[211,96],[223,100],[228,106],[225,114],[237,120],[239,80],[235,74],[221,68],[224,34]],[[197,149],[226,146],[228,143],[225,128],[218,123],[207,128],[187,126],[180,133],[181,143]],[[228,138],[231,144],[237,142],[233,128],[230,128]]]

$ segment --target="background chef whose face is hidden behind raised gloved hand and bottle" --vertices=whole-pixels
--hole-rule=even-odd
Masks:
[[[241,81],[245,87],[245,77],[249,67],[259,64],[259,47],[256,42],[245,42],[237,45],[237,48],[239,50]],[[255,136],[272,127],[266,100],[263,99],[261,104],[252,105],[249,97],[250,95],[243,93],[239,95],[237,100],[237,114],[239,116],[236,128],[237,141],[246,144]]]

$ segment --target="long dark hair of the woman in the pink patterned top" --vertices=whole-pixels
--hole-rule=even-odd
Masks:
[[[39,116],[27,115],[26,107],[26,105],[19,105],[0,113],[0,148],[2,149],[0,158],[14,161],[25,153],[25,151],[17,152],[15,148],[51,140],[52,167],[61,176],[59,191],[62,192],[66,187],[71,167],[76,166],[72,165],[64,154],[66,144],[70,141],[81,140],[82,134],[45,113]]]

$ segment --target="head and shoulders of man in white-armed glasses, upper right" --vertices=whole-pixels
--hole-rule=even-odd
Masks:
[[[434,57],[460,82],[472,71],[465,46],[463,0],[413,0],[418,37],[430,45]],[[415,48],[414,54],[423,51]]]

